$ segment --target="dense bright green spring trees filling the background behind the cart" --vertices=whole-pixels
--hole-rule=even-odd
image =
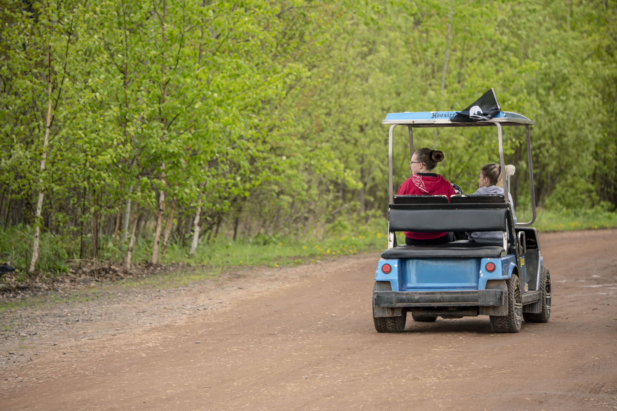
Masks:
[[[386,210],[385,113],[461,110],[488,87],[537,122],[539,205],[617,204],[615,1],[0,5],[0,224],[35,250],[40,231],[64,259],[119,250],[130,265],[143,238],[157,262],[168,242],[194,253],[223,230],[345,229]],[[524,130],[506,131],[522,206]],[[415,136],[467,192],[497,160],[494,129]],[[37,258],[21,264],[57,269]]]

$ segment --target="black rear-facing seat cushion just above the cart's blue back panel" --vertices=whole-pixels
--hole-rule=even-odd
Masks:
[[[399,245],[381,253],[381,258],[497,258],[503,246],[459,240],[436,245]]]

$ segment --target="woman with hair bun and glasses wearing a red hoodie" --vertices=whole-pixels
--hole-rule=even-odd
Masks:
[[[437,163],[444,160],[444,153],[439,150],[424,149],[416,150],[412,155],[409,166],[412,176],[399,187],[398,195],[446,195],[448,200],[455,194],[452,184],[439,174],[433,173]],[[405,231],[405,244],[407,245],[431,245],[453,241],[451,232],[420,232]]]

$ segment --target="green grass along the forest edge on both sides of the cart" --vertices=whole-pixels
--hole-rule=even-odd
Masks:
[[[531,211],[517,210],[518,221],[531,219]],[[599,206],[586,210],[537,210],[533,227],[541,232],[603,229],[617,227],[617,213],[605,211]],[[318,232],[298,232],[291,237],[272,237],[260,235],[251,240],[236,242],[220,236],[210,243],[202,242],[196,254],[189,254],[189,243],[171,242],[167,253],[162,256],[164,264],[183,263],[189,267],[178,267],[173,272],[152,275],[145,279],[125,280],[125,287],[180,287],[191,282],[212,279],[222,272],[233,272],[242,267],[281,267],[289,264],[315,262],[319,259],[334,259],[340,256],[379,251],[386,247],[387,221],[383,217],[368,222],[349,222],[337,219]],[[325,234],[323,234],[325,233]],[[0,250],[10,255],[13,264],[22,272],[30,259],[32,234],[31,227],[17,226],[0,229]],[[402,234],[401,234],[402,235]],[[399,237],[400,242],[400,237]],[[89,243],[88,243],[89,246]],[[140,239],[136,243],[133,262],[139,264],[151,258],[151,239]],[[79,248],[76,238],[44,233],[41,235],[41,275],[65,275],[72,261],[78,258]],[[122,265],[126,245],[112,244],[110,236],[103,236],[99,257],[102,261]],[[1,281],[1,280],[0,280]],[[99,289],[100,287],[97,287]],[[77,301],[87,296],[69,296],[60,293],[46,296],[44,301]],[[7,305],[8,304],[8,305]],[[17,308],[20,303],[3,303],[2,307]]]

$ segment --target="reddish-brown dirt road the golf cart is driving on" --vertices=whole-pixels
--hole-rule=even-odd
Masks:
[[[175,301],[223,301],[217,311],[43,341],[46,352],[1,373],[0,409],[617,409],[617,230],[540,241],[552,317],[517,334],[493,334],[484,316],[409,317],[404,333],[376,333],[378,254],[366,254],[245,275]]]

